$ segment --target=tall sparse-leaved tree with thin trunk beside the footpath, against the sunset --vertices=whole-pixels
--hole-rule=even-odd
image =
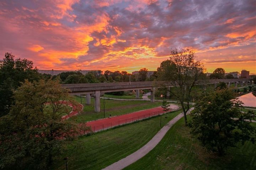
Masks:
[[[162,87],[173,86],[166,89],[180,102],[185,125],[187,125],[187,112],[190,109],[192,91],[203,75],[203,66],[196,60],[193,51],[188,49],[175,49],[171,51],[170,60],[163,61],[158,68],[158,79],[165,81]]]

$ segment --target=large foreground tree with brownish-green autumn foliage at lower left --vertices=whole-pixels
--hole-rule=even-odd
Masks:
[[[25,81],[14,92],[15,105],[0,118],[0,169],[49,169],[63,144],[78,135],[63,102],[74,105],[67,89],[57,81]]]

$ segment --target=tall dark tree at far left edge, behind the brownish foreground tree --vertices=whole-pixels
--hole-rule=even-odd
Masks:
[[[9,113],[13,90],[17,89],[25,79],[29,81],[39,80],[41,75],[37,68],[33,67],[33,62],[27,59],[17,58],[11,53],[5,53],[3,63],[0,64],[0,117]]]

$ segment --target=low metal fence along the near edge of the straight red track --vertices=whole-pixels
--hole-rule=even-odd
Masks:
[[[172,108],[167,113],[177,111],[178,109],[180,109],[180,108],[179,107]],[[155,117],[155,116],[162,115],[162,114],[165,114],[165,112],[164,111],[162,111],[162,112],[152,112],[152,113],[147,113],[147,114],[143,114],[143,115],[134,116],[134,117],[131,117],[131,118],[119,119],[119,120],[115,120],[115,121],[111,121],[111,118],[108,118],[108,120],[110,120],[110,122],[103,123],[101,125],[90,126],[90,127],[91,127],[92,131],[98,132],[98,131],[102,131],[102,130],[106,130],[106,129],[111,129],[111,128],[114,128],[116,126],[130,124],[130,123],[133,123],[135,121],[148,119],[148,118]]]

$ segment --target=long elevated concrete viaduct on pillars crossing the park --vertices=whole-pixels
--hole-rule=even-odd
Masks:
[[[248,85],[248,82],[252,83],[252,79],[241,78],[241,79],[210,79],[206,83],[200,84],[214,84],[215,87],[219,82],[227,83],[228,87],[230,83],[235,82],[235,87],[238,83],[241,86]],[[155,101],[155,87],[157,84],[163,84],[163,81],[144,81],[144,82],[123,82],[123,83],[90,83],[90,84],[63,84],[63,88],[70,89],[71,95],[86,95],[86,104],[91,103],[91,96],[95,98],[94,110],[100,112],[100,96],[106,92],[115,91],[129,91],[136,90],[136,98],[139,98],[139,90],[150,89],[151,91],[151,102]],[[167,86],[168,87],[168,86]],[[171,86],[169,86],[171,87]],[[167,93],[167,97],[170,93]]]

